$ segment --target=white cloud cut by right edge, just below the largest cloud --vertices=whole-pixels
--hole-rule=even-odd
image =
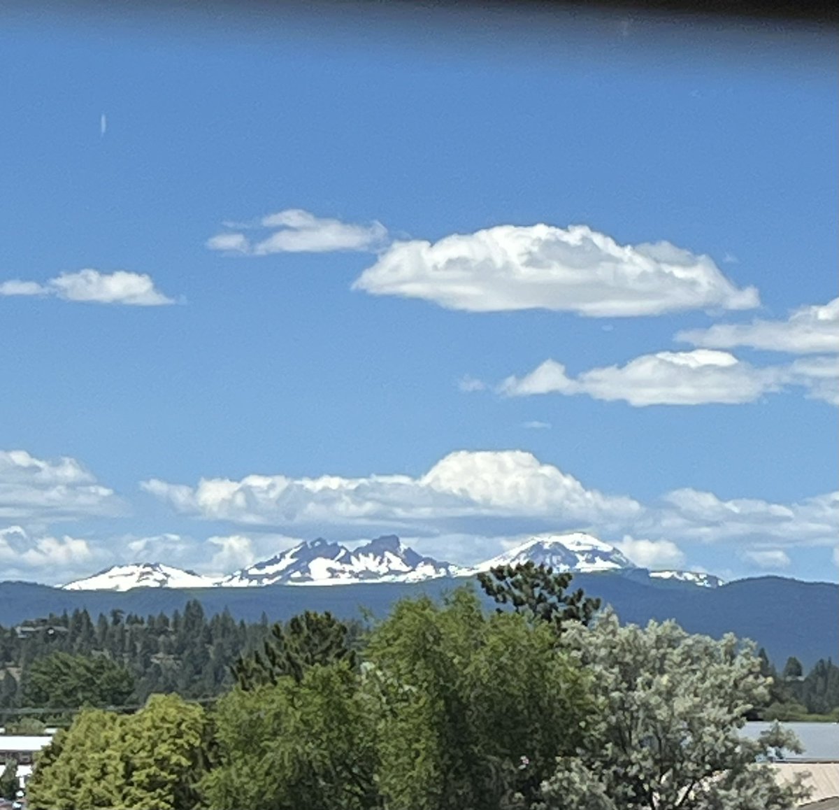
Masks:
[[[708,329],[679,332],[676,340],[707,348],[766,349],[791,354],[839,352],[839,298],[825,306],[802,306],[786,321],[715,323]]]

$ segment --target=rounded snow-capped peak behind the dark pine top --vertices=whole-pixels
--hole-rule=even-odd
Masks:
[[[597,537],[576,531],[568,535],[537,535],[521,546],[482,562],[470,572],[488,571],[503,565],[534,562],[555,571],[598,572],[636,567],[614,546]]]

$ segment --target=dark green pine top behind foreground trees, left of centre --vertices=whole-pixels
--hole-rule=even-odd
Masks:
[[[284,676],[303,680],[311,666],[347,661],[356,666],[357,656],[348,644],[349,628],[331,613],[312,613],[294,616],[289,623],[274,624],[263,651],[241,656],[233,667],[237,683],[242,689],[278,682]]]

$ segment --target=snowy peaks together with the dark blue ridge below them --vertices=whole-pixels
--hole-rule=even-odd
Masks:
[[[305,610],[329,610],[347,619],[357,618],[360,609],[383,616],[399,599],[441,598],[464,584],[476,587],[477,572],[527,561],[573,572],[573,588],[602,598],[623,621],[675,619],[690,633],[720,637],[732,632],[765,647],[773,661],[796,656],[805,666],[835,659],[839,651],[835,583],[783,577],[722,583],[702,572],[651,572],[634,566],[614,546],[580,533],[534,536],[474,567],[422,557],[398,537],[384,536],[352,550],[326,540],[300,543],[219,577],[139,563],[112,567],[64,588],[3,582],[0,625],[81,608],[91,615],[115,609],[173,614],[190,599],[200,600],[207,614],[229,611],[246,621],[286,620]]]

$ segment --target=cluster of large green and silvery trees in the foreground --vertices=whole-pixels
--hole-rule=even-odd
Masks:
[[[331,614],[276,624],[210,706],[86,709],[36,759],[30,810],[790,810],[739,730],[769,702],[753,648],[622,626],[532,564],[405,599],[358,643]],[[71,656],[70,653],[64,655]],[[10,775],[11,776],[11,775]]]

